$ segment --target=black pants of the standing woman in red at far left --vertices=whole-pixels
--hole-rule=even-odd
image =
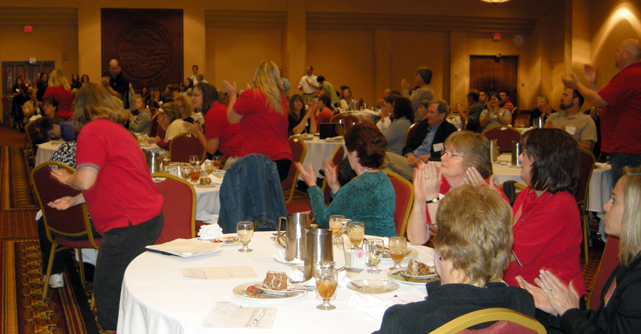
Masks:
[[[156,241],[162,223],[160,212],[146,222],[114,228],[103,235],[93,276],[95,307],[103,330],[115,330],[118,326],[120,289],[125,269],[135,257],[145,252],[145,246]]]

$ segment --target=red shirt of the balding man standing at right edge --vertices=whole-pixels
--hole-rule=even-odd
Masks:
[[[608,102],[601,112],[601,151],[641,153],[641,62],[618,72],[598,94]]]

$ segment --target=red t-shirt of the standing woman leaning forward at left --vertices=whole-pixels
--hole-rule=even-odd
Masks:
[[[78,134],[76,168],[92,166],[98,178],[83,191],[95,230],[103,235],[160,214],[162,196],[152,181],[140,146],[124,126],[94,119]]]

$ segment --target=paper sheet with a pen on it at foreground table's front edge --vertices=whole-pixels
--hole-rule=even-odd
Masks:
[[[243,307],[229,301],[214,303],[202,320],[205,327],[272,328],[278,308]]]

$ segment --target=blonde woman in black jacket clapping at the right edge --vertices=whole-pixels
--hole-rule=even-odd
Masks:
[[[619,237],[619,265],[601,291],[597,310],[580,310],[579,293],[548,270],[530,284],[518,285],[534,296],[536,308],[556,316],[564,333],[637,333],[641,328],[641,168],[623,168],[612,198],[603,205],[605,232]]]

